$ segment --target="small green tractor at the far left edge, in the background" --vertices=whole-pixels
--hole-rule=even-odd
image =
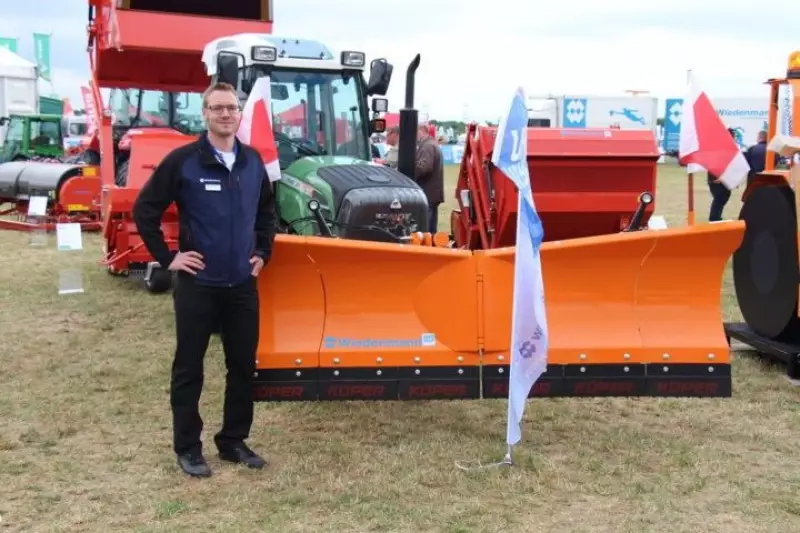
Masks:
[[[10,115],[0,117],[0,126],[7,127],[0,163],[60,161],[64,157],[61,115]]]

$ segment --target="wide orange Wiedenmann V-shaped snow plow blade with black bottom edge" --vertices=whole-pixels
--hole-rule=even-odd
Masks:
[[[720,309],[739,221],[545,243],[532,396],[731,395]],[[506,397],[514,249],[280,235],[259,278],[256,399]]]

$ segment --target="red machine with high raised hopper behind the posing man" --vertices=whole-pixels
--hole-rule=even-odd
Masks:
[[[138,236],[133,203],[164,154],[204,129],[205,45],[229,33],[269,33],[271,5],[267,0],[89,0],[90,87],[94,109],[102,110],[90,149],[99,153],[103,263],[109,273],[142,276],[153,292],[171,287],[171,274],[153,261]],[[100,88],[111,89],[108,106]],[[174,205],[162,230],[174,249]]]

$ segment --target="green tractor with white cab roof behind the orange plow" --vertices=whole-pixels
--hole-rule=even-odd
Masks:
[[[370,136],[385,130],[379,117],[388,103],[372,98],[370,113],[368,98],[386,94],[389,63],[373,61],[367,82],[362,52],[337,56],[316,41],[270,34],[222,37],[203,58],[214,81],[236,87],[242,103],[256,80],[269,77],[281,232],[405,242],[427,231],[428,201],[413,180],[413,146],[410,171],[408,164],[402,173],[373,162]]]

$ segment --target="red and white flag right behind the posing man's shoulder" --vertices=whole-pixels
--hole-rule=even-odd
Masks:
[[[278,147],[275,146],[275,134],[272,132],[272,112],[270,111],[270,81],[268,76],[258,78],[253,90],[244,104],[242,122],[236,136],[245,144],[255,148],[264,160],[267,176],[270,181],[281,179],[281,167],[278,163]]]

